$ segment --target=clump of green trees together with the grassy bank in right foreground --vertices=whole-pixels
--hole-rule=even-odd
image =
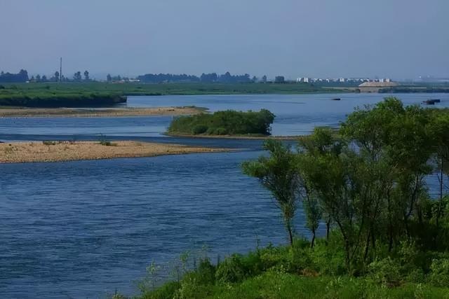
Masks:
[[[269,190],[289,246],[201,257],[142,298],[449,298],[449,112],[388,98],[243,172]],[[429,176],[437,181],[429,192]],[[295,239],[303,207],[311,239]],[[316,237],[319,226],[326,236]]]

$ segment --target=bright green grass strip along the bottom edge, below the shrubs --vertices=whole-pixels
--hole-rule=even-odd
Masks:
[[[385,288],[366,279],[351,277],[300,277],[282,272],[264,272],[240,284],[203,290],[204,297],[220,299],[260,298],[449,298],[449,288],[427,284],[404,284]]]

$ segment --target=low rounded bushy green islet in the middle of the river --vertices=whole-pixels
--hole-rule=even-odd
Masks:
[[[274,114],[266,109],[256,111],[217,111],[194,116],[179,116],[168,127],[169,134],[180,135],[259,135],[270,134]]]

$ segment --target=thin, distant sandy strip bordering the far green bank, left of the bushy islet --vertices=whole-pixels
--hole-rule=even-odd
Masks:
[[[11,108],[0,109],[0,117],[179,116],[197,114],[205,110],[194,106],[113,109]]]

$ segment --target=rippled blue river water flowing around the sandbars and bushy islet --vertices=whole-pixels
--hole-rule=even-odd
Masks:
[[[429,95],[396,95],[406,104]],[[342,97],[342,101],[330,101]],[[440,98],[447,106],[449,95]],[[382,95],[130,97],[129,106],[272,110],[274,134],[338,125],[354,106]],[[210,256],[286,242],[279,211],[257,180],[241,174],[260,141],[161,135],[170,117],[0,118],[0,140],[109,139],[228,146],[236,153],[0,165],[0,293],[4,298],[103,298],[135,294],[152,260],[187,249]],[[304,230],[298,211],[296,230]]]

